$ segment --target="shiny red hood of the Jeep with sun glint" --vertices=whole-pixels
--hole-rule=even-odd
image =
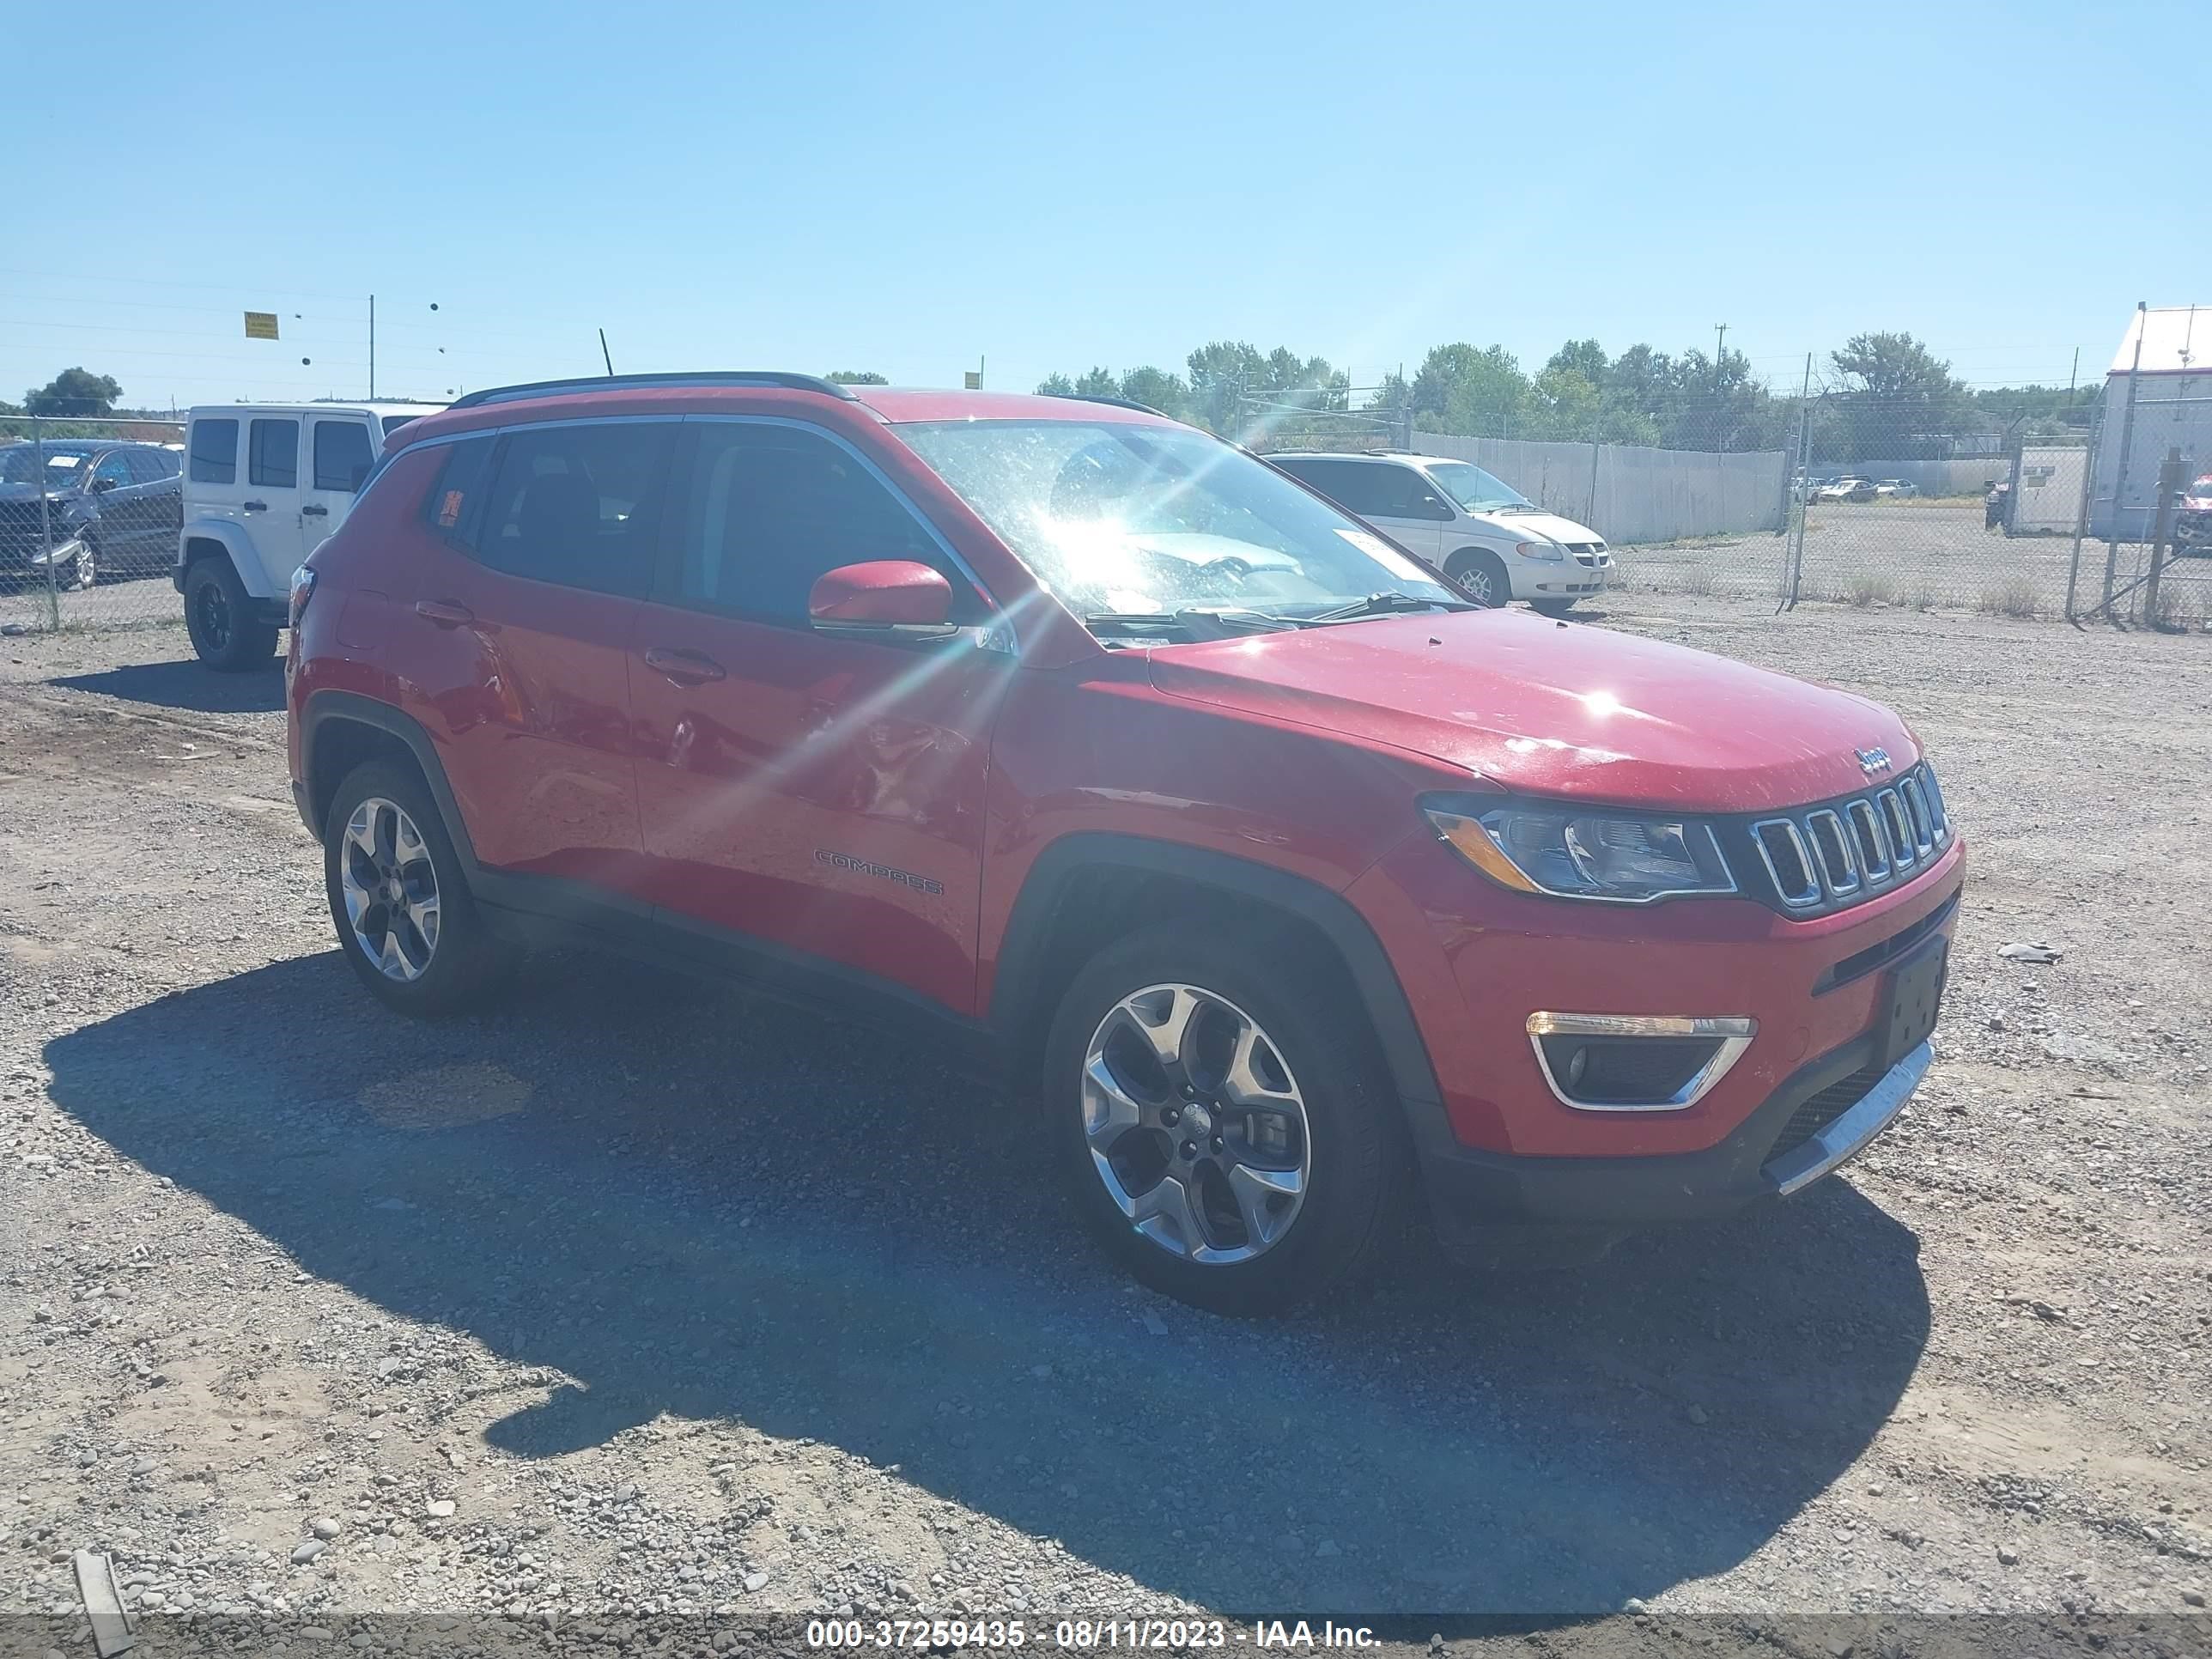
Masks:
[[[1896,776],[1920,748],[1854,692],[1524,611],[1376,617],[1159,648],[1194,703],[1427,754],[1491,783],[1615,805],[1767,812]]]

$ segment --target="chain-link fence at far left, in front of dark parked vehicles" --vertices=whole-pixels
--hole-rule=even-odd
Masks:
[[[0,422],[0,630],[181,622],[181,422]]]

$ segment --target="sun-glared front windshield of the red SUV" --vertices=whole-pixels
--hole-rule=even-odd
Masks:
[[[1192,615],[1267,628],[1385,593],[1460,604],[1374,531],[1199,431],[942,420],[898,434],[1093,633]]]

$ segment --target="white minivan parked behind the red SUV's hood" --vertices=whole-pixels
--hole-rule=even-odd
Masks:
[[[1597,531],[1546,513],[1473,462],[1305,451],[1267,460],[1440,566],[1478,604],[1526,599],[1564,617],[1577,599],[1604,593],[1613,573]]]

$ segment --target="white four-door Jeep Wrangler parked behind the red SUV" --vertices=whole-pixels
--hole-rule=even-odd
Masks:
[[[392,434],[438,403],[217,403],[186,425],[184,522],[170,580],[192,650],[210,668],[265,664],[285,584],[330,535]]]

